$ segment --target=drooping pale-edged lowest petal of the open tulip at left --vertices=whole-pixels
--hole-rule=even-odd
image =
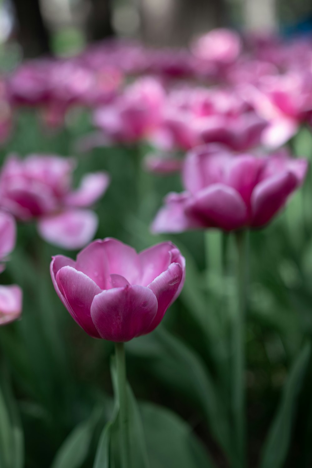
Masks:
[[[94,237],[98,217],[91,210],[73,209],[45,217],[38,222],[39,234],[45,241],[64,249],[76,250]]]

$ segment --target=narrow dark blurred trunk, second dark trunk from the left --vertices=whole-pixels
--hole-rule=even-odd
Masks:
[[[111,24],[112,1],[89,0],[90,13],[87,20],[87,36],[90,42],[114,36]]]

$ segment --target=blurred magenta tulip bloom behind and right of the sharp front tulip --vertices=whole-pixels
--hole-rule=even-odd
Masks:
[[[196,148],[183,167],[187,191],[167,196],[152,230],[218,227],[231,231],[264,226],[303,183],[306,170],[307,161],[285,153],[235,156],[217,145]]]

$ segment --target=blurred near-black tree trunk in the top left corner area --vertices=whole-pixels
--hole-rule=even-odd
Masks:
[[[17,18],[17,39],[25,57],[51,52],[49,33],[40,11],[39,0],[13,0]]]

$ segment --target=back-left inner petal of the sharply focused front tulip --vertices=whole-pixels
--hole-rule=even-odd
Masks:
[[[101,289],[110,289],[109,262],[104,241],[93,241],[82,249],[77,255],[75,268],[93,279]]]

